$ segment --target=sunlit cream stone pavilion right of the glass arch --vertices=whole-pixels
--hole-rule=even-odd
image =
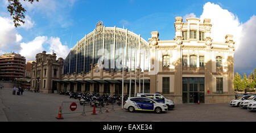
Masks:
[[[163,80],[168,79],[166,89],[170,92],[164,95],[177,104],[195,103],[195,97],[205,103],[229,102],[234,98],[233,36],[227,35],[226,42],[214,42],[210,19],[200,23],[198,18],[188,18],[187,22],[176,17],[174,40],[162,41],[158,32],[151,33],[150,92],[163,93]],[[204,81],[192,87],[187,79]]]

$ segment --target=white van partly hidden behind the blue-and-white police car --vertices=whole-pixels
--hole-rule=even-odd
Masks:
[[[160,93],[137,93],[137,97],[148,97],[166,104],[168,106],[168,110],[174,109],[174,102],[172,100],[168,100],[163,95],[160,95]]]

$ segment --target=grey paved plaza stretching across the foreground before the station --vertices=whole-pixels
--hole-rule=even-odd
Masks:
[[[224,104],[179,104],[167,113],[155,114],[151,112],[129,113],[121,106],[108,106],[109,113],[96,111],[97,115],[86,112],[83,116],[77,114],[63,114],[61,120],[56,119],[59,107],[63,101],[78,101],[69,96],[58,94],[42,94],[25,91],[22,96],[12,95],[11,88],[0,90],[0,121],[95,121],[95,122],[164,122],[164,121],[256,121],[256,112],[230,107]]]

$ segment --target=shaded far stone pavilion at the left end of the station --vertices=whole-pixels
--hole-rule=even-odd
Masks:
[[[60,87],[59,83],[53,80],[60,80],[63,74],[63,58],[58,58],[56,54],[43,53],[36,54],[36,61],[31,66],[31,88],[43,93],[53,93]]]

